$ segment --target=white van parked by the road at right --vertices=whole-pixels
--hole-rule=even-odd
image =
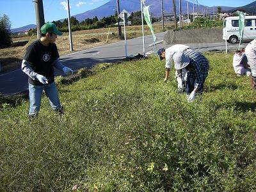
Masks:
[[[256,38],[256,16],[245,16],[243,40]],[[223,22],[223,40],[236,44],[240,40],[239,17],[226,17]]]

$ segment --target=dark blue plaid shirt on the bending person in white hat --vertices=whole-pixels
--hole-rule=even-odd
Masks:
[[[185,51],[185,56],[188,56],[194,70],[188,71],[188,78],[196,79],[195,88],[199,88],[202,82],[206,79],[209,71],[209,61],[200,52]]]

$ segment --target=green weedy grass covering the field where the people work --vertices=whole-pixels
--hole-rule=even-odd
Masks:
[[[202,102],[151,57],[60,85],[63,116],[4,105],[0,191],[255,191],[255,92],[232,55],[206,56]]]

